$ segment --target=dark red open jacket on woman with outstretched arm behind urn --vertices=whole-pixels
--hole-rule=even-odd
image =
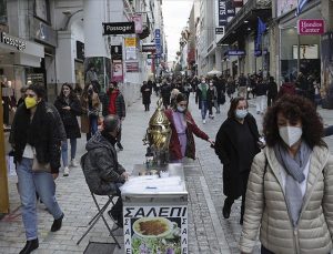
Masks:
[[[168,109],[164,111],[167,118],[169,119],[169,121],[171,123],[171,130],[172,130],[170,145],[169,145],[169,155],[170,155],[170,160],[181,160],[183,156],[182,156],[181,145],[180,145],[180,142],[178,139],[176,130],[174,126],[172,112],[173,112],[172,109]],[[186,124],[188,124],[188,129],[186,129],[188,144],[186,144],[185,156],[194,160],[195,159],[195,144],[194,144],[193,133],[198,138],[201,138],[203,140],[209,140],[209,136],[208,136],[208,134],[205,134],[203,131],[201,131],[198,128],[198,125],[195,124],[195,122],[189,111],[186,111],[186,113],[185,113],[185,120],[186,120]]]

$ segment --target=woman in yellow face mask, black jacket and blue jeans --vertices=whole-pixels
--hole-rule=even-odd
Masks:
[[[63,212],[56,199],[54,180],[60,167],[60,135],[58,112],[44,101],[41,84],[31,84],[24,103],[19,105],[9,141],[14,150],[22,221],[26,227],[26,246],[20,254],[29,254],[39,247],[37,193],[52,214],[51,232],[59,231]]]

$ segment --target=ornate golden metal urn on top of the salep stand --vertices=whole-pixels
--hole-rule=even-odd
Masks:
[[[154,161],[158,164],[165,164],[169,161],[169,143],[171,138],[170,121],[163,112],[162,99],[158,101],[158,109],[149,121],[144,144],[149,144],[153,152]]]

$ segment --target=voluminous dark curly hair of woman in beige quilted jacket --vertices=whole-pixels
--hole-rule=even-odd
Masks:
[[[273,106],[269,108],[264,121],[263,133],[269,146],[274,146],[281,142],[278,126],[278,114],[282,113],[291,123],[299,120],[302,122],[302,138],[310,145],[310,148],[326,146],[322,140],[323,136],[323,121],[315,111],[312,102],[300,95],[285,94],[279,99]]]

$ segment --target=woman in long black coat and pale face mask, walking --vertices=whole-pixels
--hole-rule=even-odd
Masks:
[[[248,108],[244,98],[233,99],[228,119],[222,123],[215,140],[215,153],[223,164],[223,193],[226,196],[222,213],[225,219],[229,219],[232,204],[242,196],[240,224],[243,223],[251,163],[260,152],[256,122],[248,112]]]

